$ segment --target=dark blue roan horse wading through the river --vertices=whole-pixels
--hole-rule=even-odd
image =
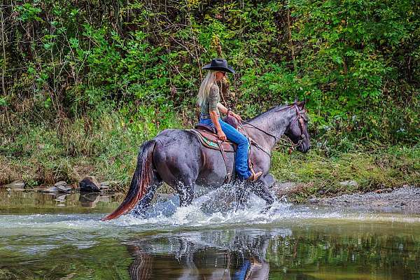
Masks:
[[[285,134],[302,153],[311,146],[304,102],[275,106],[244,122],[243,127],[248,137],[257,143],[251,146],[253,169],[262,171],[260,179],[250,183],[250,190],[267,204],[272,204],[274,197],[268,190],[274,183],[273,176],[268,173],[270,155],[281,141],[280,137]],[[193,132],[164,130],[141,145],[136,171],[125,199],[103,220],[117,218],[136,206],[137,212],[146,209],[163,182],[178,192],[180,206],[187,206],[193,201],[195,186],[222,186],[227,169],[230,174],[235,172],[234,154],[226,153],[225,160],[220,151],[204,147]]]

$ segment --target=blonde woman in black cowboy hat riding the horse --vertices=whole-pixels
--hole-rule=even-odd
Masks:
[[[201,107],[200,123],[215,127],[221,141],[230,141],[237,144],[237,153],[235,158],[235,171],[239,179],[247,181],[257,181],[262,172],[253,173],[248,167],[248,139],[239,133],[234,127],[221,120],[221,114],[229,114],[237,120],[241,116],[228,110],[220,103],[221,97],[216,82],[225,78],[226,72],[235,73],[225,59],[211,59],[211,63],[203,67],[209,70],[206,78],[202,81],[198,91],[197,104]]]

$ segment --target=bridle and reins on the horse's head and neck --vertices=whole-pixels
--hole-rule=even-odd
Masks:
[[[276,141],[276,143],[278,143],[278,144],[280,144],[282,146],[289,147],[291,149],[295,149],[296,147],[302,145],[302,142],[304,141],[304,130],[303,130],[303,128],[304,128],[304,121],[307,121],[308,120],[307,119],[307,116],[306,116],[306,113],[307,113],[306,109],[300,110],[299,106],[297,106],[297,104],[295,103],[295,104],[292,104],[292,105],[283,107],[282,109],[279,109],[276,112],[283,111],[283,110],[286,110],[286,109],[290,109],[292,107],[293,107],[293,109],[295,109],[296,118],[292,122],[290,122],[290,125],[289,126],[293,125],[295,122],[298,121],[299,122],[299,129],[300,129],[300,139],[297,141],[296,144],[294,144],[293,141],[291,141],[291,139],[290,139],[290,141],[288,141],[286,139],[283,139],[283,138],[280,138],[280,137],[276,137],[275,135],[273,135],[273,134],[271,134],[269,132],[266,132],[265,130],[262,130],[260,127],[257,127],[257,126],[255,126],[255,125],[253,125],[251,123],[248,123],[245,120],[241,120],[241,122],[239,122],[239,126],[241,126],[242,130],[244,130],[244,127],[242,126],[241,123],[245,123],[246,125],[249,125],[249,126],[255,128],[256,130],[260,130],[260,132],[263,132],[263,133],[267,134],[270,137],[273,137],[274,140]],[[244,132],[246,133],[245,130],[244,130]],[[267,151],[265,151],[264,149],[262,149],[260,146],[257,146],[257,148],[260,148],[263,152],[267,153]],[[267,155],[269,155],[269,157],[271,157],[271,155],[269,153],[267,153]]]

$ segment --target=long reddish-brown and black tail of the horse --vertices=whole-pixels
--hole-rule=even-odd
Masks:
[[[149,184],[153,178],[152,155],[156,142],[154,140],[146,141],[140,147],[137,157],[137,167],[125,199],[120,206],[108,216],[102,218],[102,221],[112,220],[127,213],[133,209],[137,202],[144,196]]]

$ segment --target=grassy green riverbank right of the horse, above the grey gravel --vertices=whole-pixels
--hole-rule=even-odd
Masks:
[[[349,151],[332,156],[320,149],[307,154],[274,153],[276,193],[292,202],[314,197],[366,193],[384,188],[420,186],[419,147],[388,147]]]

